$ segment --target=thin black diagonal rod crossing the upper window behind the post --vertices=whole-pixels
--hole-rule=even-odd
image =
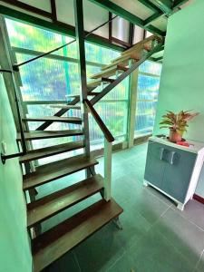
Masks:
[[[92,31],[90,31],[88,34],[85,34],[85,38],[87,38],[89,35],[91,35],[94,31],[96,31],[96,30],[98,30],[99,28],[101,28],[103,25],[109,24],[110,22],[112,22],[112,20],[114,20],[116,17],[118,17],[118,15],[113,16],[112,19],[110,19],[110,20],[106,21],[105,23],[100,24],[100,25],[98,25],[97,27],[93,28]],[[42,53],[42,54],[40,54],[40,55],[38,55],[38,56],[36,56],[36,57],[30,59],[30,60],[27,60],[27,61],[23,62],[23,63],[14,64],[14,65],[13,65],[13,69],[14,69],[14,71],[18,72],[20,66],[22,66],[22,65],[24,65],[24,64],[27,64],[27,63],[34,62],[35,60],[37,60],[37,59],[39,59],[39,58],[42,58],[42,57],[44,57],[44,56],[47,55],[47,54],[53,53],[53,52],[55,52],[55,51],[58,51],[58,50],[62,49],[62,48],[65,47],[65,46],[68,46],[68,45],[70,45],[70,44],[73,44],[75,41],[76,41],[76,39],[73,39],[73,41],[71,41],[71,42],[69,42],[69,43],[67,43],[67,44],[63,44],[63,45],[61,45],[61,46],[59,46],[59,47],[57,47],[57,48],[54,48],[54,49],[51,50],[51,51],[48,51],[48,52],[46,52],[46,53]]]

